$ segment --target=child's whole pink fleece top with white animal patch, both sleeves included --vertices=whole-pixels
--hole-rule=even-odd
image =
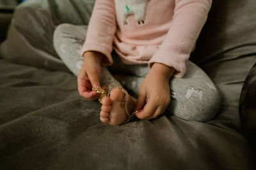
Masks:
[[[97,51],[113,63],[165,64],[186,72],[186,61],[207,19],[212,0],[96,0],[82,52]]]

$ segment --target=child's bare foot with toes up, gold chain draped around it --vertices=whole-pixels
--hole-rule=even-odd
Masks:
[[[129,113],[132,113],[134,108],[134,102],[126,90],[125,100],[127,101],[127,107]],[[127,118],[127,113],[122,107],[123,102],[123,93],[122,90],[115,88],[111,90],[109,97],[103,97],[102,106],[100,111],[100,120],[103,123],[108,123],[111,125],[118,125],[124,122]]]

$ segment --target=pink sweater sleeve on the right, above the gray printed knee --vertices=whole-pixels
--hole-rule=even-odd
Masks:
[[[174,76],[186,72],[186,61],[193,50],[202,27],[207,20],[212,0],[176,0],[172,25],[159,50],[149,61],[174,67]]]

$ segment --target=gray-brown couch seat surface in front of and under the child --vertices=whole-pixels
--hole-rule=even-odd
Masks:
[[[70,73],[0,60],[0,80],[0,169],[255,168],[237,115],[242,85],[218,86],[227,103],[209,124],[166,114],[113,127]]]

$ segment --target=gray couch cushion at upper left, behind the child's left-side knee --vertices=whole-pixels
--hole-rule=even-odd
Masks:
[[[93,4],[93,0],[29,0],[20,4],[0,45],[1,57],[28,66],[69,71],[52,48],[53,31],[63,22],[88,24]]]

